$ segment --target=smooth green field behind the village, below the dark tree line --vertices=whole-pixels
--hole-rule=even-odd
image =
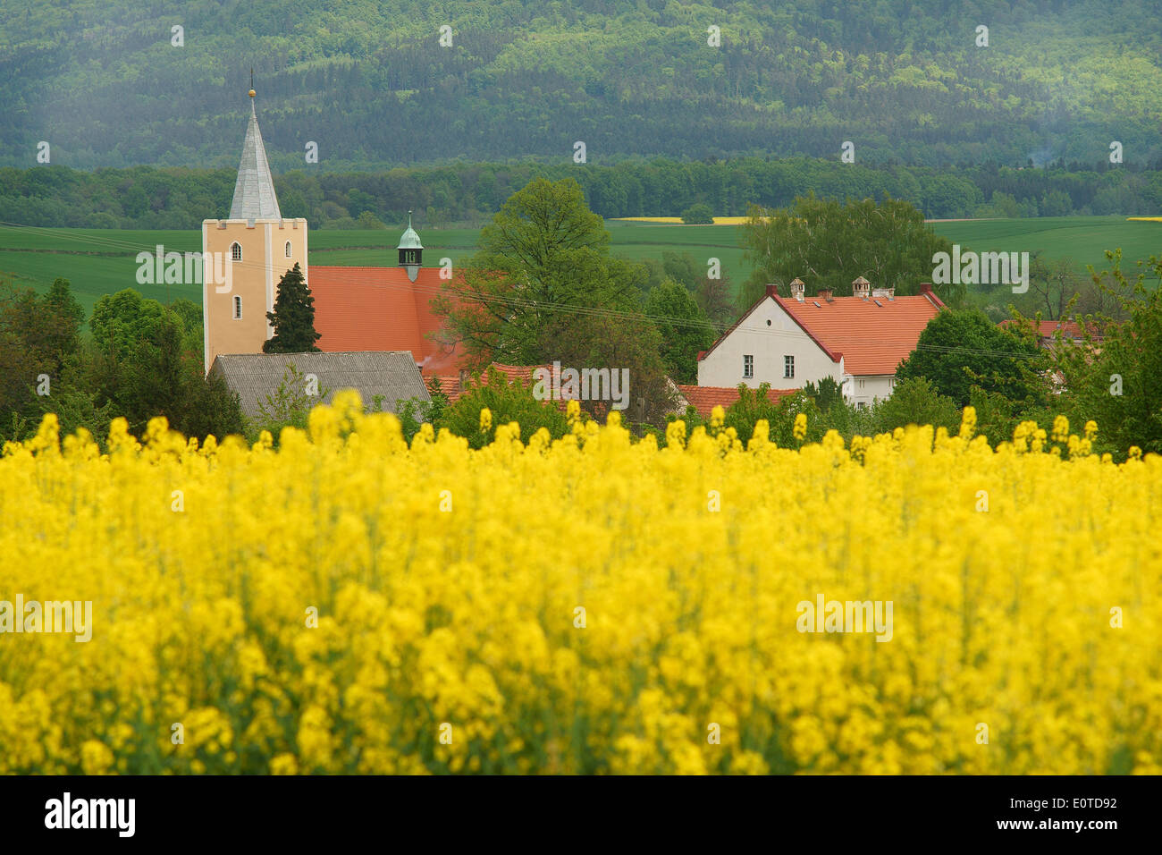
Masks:
[[[661,258],[667,251],[689,252],[705,264],[711,257],[734,286],[751,266],[738,245],[737,226],[666,226],[605,222],[611,252],[619,258]],[[1041,218],[1027,220],[963,220],[933,223],[933,228],[962,249],[976,251],[1042,251],[1048,258],[1069,258],[1084,270],[1106,266],[1103,252],[1120,247],[1132,264],[1162,255],[1162,222],[1128,222],[1121,216]],[[440,258],[453,264],[475,251],[476,229],[425,229],[424,262],[437,266]],[[310,263],[325,265],[390,265],[395,263],[396,230],[314,230]],[[72,283],[86,309],[106,293],[136,287],[163,302],[186,297],[200,302],[200,285],[138,285],[136,255],[166,250],[201,249],[201,234],[182,231],[125,231],[116,229],[40,229],[0,227],[0,276],[44,290],[60,276]]]

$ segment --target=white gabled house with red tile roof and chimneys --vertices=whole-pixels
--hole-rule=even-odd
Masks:
[[[698,385],[802,389],[832,378],[856,406],[888,398],[896,368],[916,348],[920,332],[944,302],[930,284],[913,297],[895,288],[871,290],[863,277],[852,297],[819,291],[805,295],[801,279],[791,297],[774,285],[716,341],[698,354]]]

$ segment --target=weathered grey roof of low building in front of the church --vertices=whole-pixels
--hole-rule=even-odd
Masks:
[[[374,397],[383,397],[383,411],[396,412],[396,401],[408,398],[431,400],[416,361],[409,350],[361,350],[335,354],[223,354],[214,359],[210,373],[225,377],[238,393],[242,411],[250,418],[259,415],[258,405],[267,409],[267,396],[282,383],[287,364],[301,375],[315,375],[322,402],[329,404],[343,389],[359,391],[364,406],[374,408]]]

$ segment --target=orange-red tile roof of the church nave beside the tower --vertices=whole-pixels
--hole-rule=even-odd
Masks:
[[[307,284],[315,298],[315,329],[324,351],[410,350],[425,373],[457,371],[462,348],[433,341],[443,326],[429,305],[445,280],[439,268],[328,268],[311,264]]]

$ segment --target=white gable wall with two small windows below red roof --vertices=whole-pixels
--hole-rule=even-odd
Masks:
[[[753,357],[753,372],[745,376],[746,359]],[[786,377],[786,357],[795,359],[795,376]],[[769,383],[772,389],[802,389],[831,377],[842,377],[842,359],[832,362],[795,320],[769,297],[755,306],[723,341],[698,362],[700,386],[737,386],[745,383],[758,389]]]

